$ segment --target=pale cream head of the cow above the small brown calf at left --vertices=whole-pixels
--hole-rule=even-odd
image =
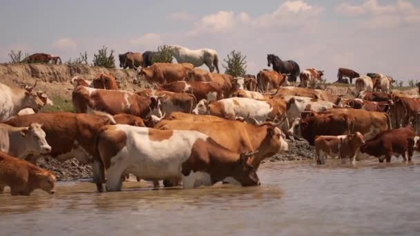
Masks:
[[[41,124],[32,123],[29,127],[21,130],[23,138],[26,139],[25,143],[22,145],[26,145],[26,148],[30,153],[51,153],[52,148],[47,143],[46,134],[41,127]]]

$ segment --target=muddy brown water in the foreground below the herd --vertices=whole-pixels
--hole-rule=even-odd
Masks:
[[[271,162],[262,185],[120,193],[59,182],[57,193],[0,194],[0,235],[420,235],[420,158]],[[8,191],[8,188],[6,189]]]

